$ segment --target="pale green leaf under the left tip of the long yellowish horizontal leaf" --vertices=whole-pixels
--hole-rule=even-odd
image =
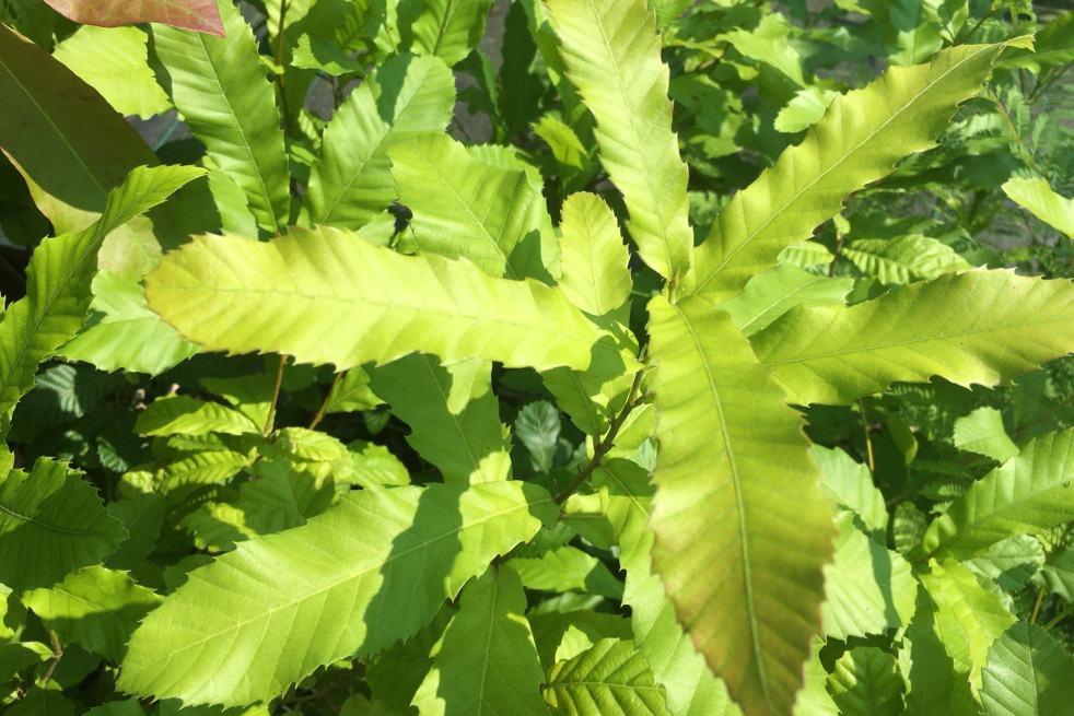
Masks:
[[[160,375],[200,350],[145,307],[138,280],[100,271],[92,287],[90,320],[60,348],[63,357],[102,371]]]

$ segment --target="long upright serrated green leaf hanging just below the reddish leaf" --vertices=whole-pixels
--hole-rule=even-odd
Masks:
[[[287,223],[287,153],[272,86],[257,60],[254,33],[238,8],[219,0],[224,34],[212,37],[153,25],[157,80],[209,159],[240,186],[268,234]]]

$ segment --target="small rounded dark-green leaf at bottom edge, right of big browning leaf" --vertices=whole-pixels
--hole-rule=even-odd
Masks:
[[[899,716],[906,683],[895,657],[872,646],[843,654],[828,677],[841,716]]]

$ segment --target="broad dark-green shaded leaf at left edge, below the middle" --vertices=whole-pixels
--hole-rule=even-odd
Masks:
[[[0,456],[0,583],[13,591],[50,587],[97,564],[127,538],[81,472],[39,458],[27,473]]]

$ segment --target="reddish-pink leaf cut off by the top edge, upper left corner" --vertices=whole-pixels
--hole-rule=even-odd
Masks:
[[[214,0],[45,0],[65,17],[83,25],[116,27],[159,22],[173,27],[224,36]]]

